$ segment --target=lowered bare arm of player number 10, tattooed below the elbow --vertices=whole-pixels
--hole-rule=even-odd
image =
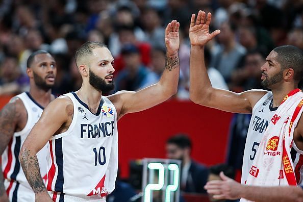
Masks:
[[[69,98],[57,98],[44,110],[39,121],[24,141],[19,160],[26,178],[36,194],[36,199],[50,200],[42,181],[37,153],[73,114],[73,105]],[[43,199],[42,199],[43,198]]]

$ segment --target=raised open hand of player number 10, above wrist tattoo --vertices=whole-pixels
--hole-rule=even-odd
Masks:
[[[176,20],[172,20],[167,24],[165,29],[165,45],[169,55],[173,55],[178,52],[180,44],[179,27],[180,23]]]

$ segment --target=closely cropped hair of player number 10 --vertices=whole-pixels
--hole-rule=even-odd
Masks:
[[[92,55],[92,50],[98,47],[106,47],[106,45],[98,41],[87,41],[82,44],[75,53],[75,62],[77,67],[79,67],[79,63],[82,58]]]

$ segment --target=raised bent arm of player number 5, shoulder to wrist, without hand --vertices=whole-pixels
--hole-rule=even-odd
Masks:
[[[191,46],[189,92],[190,99],[196,104],[234,113],[251,113],[258,100],[267,93],[256,89],[235,93],[213,88],[205,67],[203,46]]]

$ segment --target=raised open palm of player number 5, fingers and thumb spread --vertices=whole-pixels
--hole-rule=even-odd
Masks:
[[[191,45],[204,46],[208,41],[212,40],[215,36],[220,34],[220,30],[209,33],[209,25],[211,22],[212,14],[204,11],[199,11],[197,19],[196,15],[192,14],[190,19],[189,39]]]

